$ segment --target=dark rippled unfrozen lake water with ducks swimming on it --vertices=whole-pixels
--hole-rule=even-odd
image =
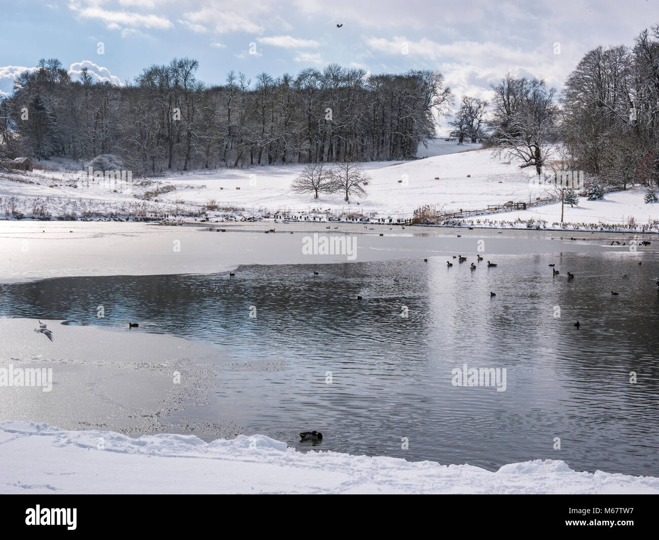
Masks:
[[[0,315],[138,321],[257,360],[221,369],[204,414],[298,446],[316,429],[324,450],[659,475],[656,252],[516,254],[470,271],[473,259],[53,279],[3,286]],[[505,368],[506,390],[454,387],[464,364]]]

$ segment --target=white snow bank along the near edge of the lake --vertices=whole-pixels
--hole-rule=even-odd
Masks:
[[[0,423],[1,493],[659,493],[659,478],[576,472],[559,460],[470,465],[298,452],[264,435],[204,443]]]

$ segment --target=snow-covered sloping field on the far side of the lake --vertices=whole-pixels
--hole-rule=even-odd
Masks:
[[[416,208],[428,203],[445,212],[455,212],[510,201],[529,203],[552,196],[545,186],[529,182],[528,169],[494,159],[491,150],[479,148],[480,145],[459,146],[432,140],[428,149],[419,149],[419,155],[430,155],[425,159],[363,163],[362,168],[370,176],[364,186],[367,196],[353,198],[350,203],[340,194],[314,199],[310,194],[293,193],[291,181],[304,165],[193,171],[115,182],[91,181],[83,171],[71,171],[74,164],[69,161],[53,160],[44,165],[56,170],[14,176],[21,181],[0,175],[0,213],[11,216],[14,211],[32,217],[43,209],[53,219],[67,214],[98,219],[111,213],[124,217],[189,218],[208,211],[212,219],[231,221],[288,213],[308,219],[368,217],[395,222],[412,217]],[[645,204],[643,194],[644,190],[637,188],[607,194],[604,201],[581,198],[578,207],[566,208],[565,221],[580,224],[579,228],[594,228],[590,224],[627,227],[630,219],[637,225],[653,223],[659,220],[659,204]],[[208,210],[208,205],[212,210]],[[560,205],[552,204],[480,219],[469,217],[467,221],[480,227],[525,228],[529,219],[535,219],[546,221],[543,227],[551,229],[560,216]],[[656,229],[656,225],[650,229]]]

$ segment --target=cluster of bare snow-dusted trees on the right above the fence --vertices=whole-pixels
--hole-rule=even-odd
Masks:
[[[497,155],[538,175],[560,162],[603,185],[659,182],[659,25],[632,47],[588,51],[561,95],[543,80],[511,74],[492,89],[488,142]]]

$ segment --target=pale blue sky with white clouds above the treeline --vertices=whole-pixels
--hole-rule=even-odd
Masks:
[[[457,98],[484,97],[507,71],[559,88],[589,49],[631,44],[656,23],[656,0],[14,0],[0,20],[0,92],[42,57],[121,84],[188,56],[211,84],[229,70],[254,80],[335,62],[437,69]]]

